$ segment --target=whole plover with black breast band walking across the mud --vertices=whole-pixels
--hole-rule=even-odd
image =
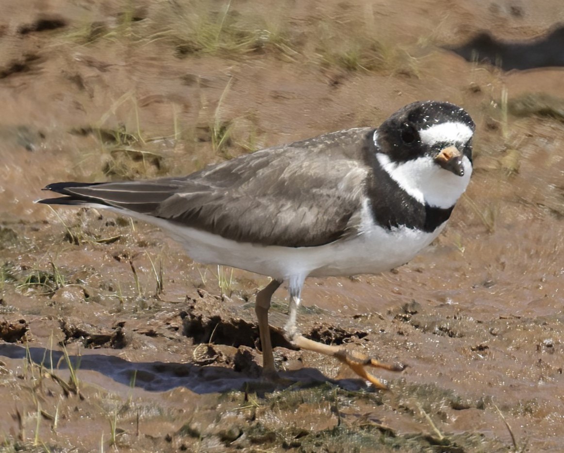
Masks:
[[[443,230],[472,174],[472,118],[447,102],[415,102],[377,129],[359,127],[275,146],[186,177],[61,182],[39,203],[94,206],[152,222],[193,260],[272,278],[255,311],[263,372],[275,376],[272,294],[289,287],[287,340],[341,360],[378,388],[359,351],[309,340],[296,323],[307,276],[377,274],[407,263]]]

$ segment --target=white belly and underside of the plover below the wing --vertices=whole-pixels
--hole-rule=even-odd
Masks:
[[[160,226],[197,262],[237,267],[286,280],[290,289],[300,289],[307,276],[379,274],[401,266],[429,245],[444,226],[443,224],[432,233],[406,227],[389,231],[373,222],[369,225],[366,221],[363,222],[365,230],[362,234],[345,240],[320,247],[280,247],[240,243],[196,228],[175,225],[151,215],[104,205],[89,206],[129,214]],[[368,205],[364,209],[368,209]],[[368,212],[362,215],[367,218]]]

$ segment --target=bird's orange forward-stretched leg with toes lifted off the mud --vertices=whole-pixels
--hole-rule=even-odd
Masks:
[[[301,288],[300,288],[301,289]],[[368,355],[359,353],[358,351],[348,351],[347,348],[343,346],[330,346],[317,341],[310,340],[301,335],[296,327],[296,317],[300,302],[300,292],[299,289],[294,291],[290,286],[290,309],[289,309],[289,319],[284,327],[284,332],[286,339],[290,341],[294,346],[299,349],[305,349],[307,351],[313,351],[319,354],[329,355],[345,363],[352,371],[363,379],[372,382],[374,386],[379,389],[387,389],[387,386],[377,379],[377,377],[372,376],[368,373],[364,367],[372,368],[384,368],[384,370],[389,371],[403,371],[406,367],[403,364],[386,364],[379,360],[376,360]]]

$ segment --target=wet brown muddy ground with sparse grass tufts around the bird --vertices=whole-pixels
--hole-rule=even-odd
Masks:
[[[440,49],[537,36],[559,0],[0,2],[1,451],[561,451],[562,71]],[[446,231],[378,276],[309,279],[306,336],[388,362],[389,392],[288,349],[260,379],[263,276],[151,225],[34,205],[55,181],[186,174],[414,100],[477,123]]]

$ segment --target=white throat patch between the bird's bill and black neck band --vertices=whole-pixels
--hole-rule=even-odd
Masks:
[[[420,203],[437,208],[451,208],[466,190],[472,175],[472,164],[462,157],[464,176],[457,176],[435,164],[429,156],[419,157],[396,164],[384,153],[376,153],[376,159],[390,177]]]

